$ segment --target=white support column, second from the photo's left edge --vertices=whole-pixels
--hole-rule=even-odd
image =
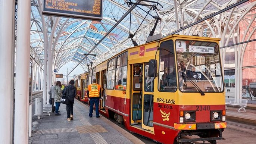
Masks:
[[[18,0],[14,144],[28,143],[30,9],[30,0]]]

